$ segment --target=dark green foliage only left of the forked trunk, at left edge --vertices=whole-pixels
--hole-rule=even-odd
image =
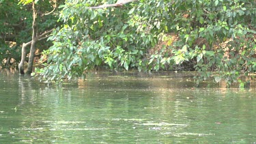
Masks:
[[[10,59],[20,59],[18,45],[21,41],[27,40],[27,35],[24,35],[27,31],[24,17],[29,12],[14,0],[0,1],[0,11],[0,66],[8,67],[11,65]]]

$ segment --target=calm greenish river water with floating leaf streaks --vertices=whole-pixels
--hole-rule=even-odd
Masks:
[[[187,74],[89,74],[56,87],[0,73],[0,143],[256,143],[255,88]]]

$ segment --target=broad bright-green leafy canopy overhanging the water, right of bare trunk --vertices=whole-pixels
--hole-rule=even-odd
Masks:
[[[61,5],[65,25],[49,38],[48,63],[37,71],[42,78],[77,78],[102,64],[126,70],[190,66],[199,72],[197,85],[212,77],[230,85],[256,70],[253,0],[141,0],[124,8],[87,9],[102,3]],[[175,42],[170,33],[177,34]]]

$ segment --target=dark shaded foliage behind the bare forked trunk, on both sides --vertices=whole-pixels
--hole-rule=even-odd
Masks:
[[[38,33],[43,33],[57,25],[56,13],[47,14],[54,6],[54,1],[37,1]],[[16,63],[20,61],[22,44],[31,41],[33,22],[31,1],[1,0],[0,12],[0,66],[9,67],[12,64],[9,63],[10,59]],[[51,42],[44,41],[37,44],[40,51],[48,49],[49,46]],[[27,48],[28,52],[29,48]]]

